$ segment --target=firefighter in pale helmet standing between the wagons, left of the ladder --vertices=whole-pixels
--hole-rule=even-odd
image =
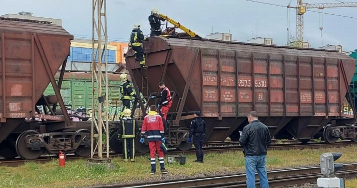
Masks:
[[[130,81],[126,79],[126,74],[123,73],[120,75],[121,84],[119,86],[119,91],[121,93],[121,101],[123,102],[123,109],[121,110],[119,119],[124,117],[124,110],[130,108],[130,102],[133,100],[133,97],[137,99],[135,92],[130,86]]]

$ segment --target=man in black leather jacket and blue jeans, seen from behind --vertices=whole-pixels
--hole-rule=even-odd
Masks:
[[[271,145],[271,137],[268,127],[258,120],[258,113],[248,113],[249,124],[244,127],[239,139],[244,146],[245,170],[247,176],[247,188],[256,187],[255,173],[258,171],[260,187],[269,188],[267,175],[267,148]]]

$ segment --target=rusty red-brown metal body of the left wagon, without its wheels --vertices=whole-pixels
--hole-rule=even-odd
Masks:
[[[35,113],[36,102],[69,54],[73,36],[58,25],[9,20],[0,20],[0,36],[0,119],[6,126],[6,118]]]

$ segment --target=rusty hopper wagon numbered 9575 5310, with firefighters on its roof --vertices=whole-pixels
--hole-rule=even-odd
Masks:
[[[166,135],[171,147],[190,148],[187,133],[195,110],[206,121],[206,141],[238,141],[251,110],[277,139],[356,141],[356,129],[348,126],[355,120],[341,110],[355,70],[347,55],[174,37],[151,37],[143,48],[148,68],[140,69],[132,50],[125,55],[126,67],[148,105],[158,102],[148,97],[159,92],[159,81],[172,90]],[[139,104],[145,112],[147,106]],[[140,143],[137,148],[148,151]]]

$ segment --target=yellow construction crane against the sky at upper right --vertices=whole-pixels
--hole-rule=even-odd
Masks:
[[[324,8],[345,8],[345,7],[357,7],[357,3],[318,3],[318,4],[308,4],[302,3],[302,0],[297,0],[296,7],[296,42],[299,47],[302,47],[303,43],[303,14],[306,9],[318,9],[322,10]],[[322,29],[322,28],[320,28]]]

